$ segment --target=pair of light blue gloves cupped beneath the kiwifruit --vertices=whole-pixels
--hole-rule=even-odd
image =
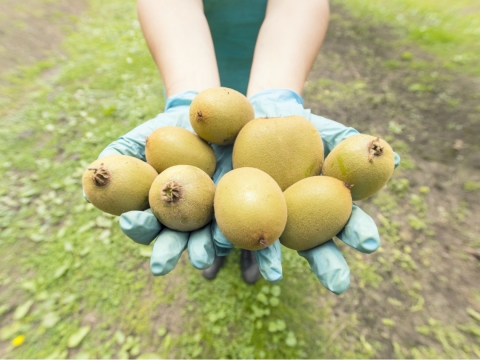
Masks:
[[[189,107],[196,95],[195,91],[185,91],[168,98],[163,113],[108,145],[100,153],[99,158],[123,154],[146,161],[145,140],[154,130],[164,126],[179,126],[194,132],[190,125]],[[325,156],[342,140],[358,134],[353,128],[311,114],[310,110],[304,109],[301,96],[288,89],[262,91],[249,100],[255,110],[255,117],[300,115],[311,121],[320,132]],[[217,160],[213,180],[217,184],[224,174],[232,170],[233,145],[212,147]],[[395,167],[399,163],[400,158],[395,154]],[[185,249],[188,249],[190,262],[195,268],[206,269],[212,265],[215,254],[225,256],[233,248],[215,220],[202,229],[190,233],[180,232],[163,227],[148,209],[122,214],[120,227],[125,235],[137,243],[148,245],[155,240],[150,267],[156,276],[168,274]],[[337,237],[362,253],[371,253],[380,246],[375,222],[355,204],[348,223]],[[317,278],[327,289],[335,294],[341,294],[348,289],[350,270],[333,240],[310,250],[299,251],[298,254],[308,261]],[[255,251],[255,256],[260,272],[266,280],[277,282],[282,279],[282,251],[278,240],[265,249]]]

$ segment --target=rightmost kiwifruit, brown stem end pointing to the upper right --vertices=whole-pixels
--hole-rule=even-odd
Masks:
[[[355,201],[366,199],[383,188],[394,167],[394,153],[385,140],[358,134],[333,148],[325,159],[322,173],[352,186]]]

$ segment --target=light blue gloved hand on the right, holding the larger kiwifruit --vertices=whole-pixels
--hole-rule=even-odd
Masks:
[[[314,115],[310,110],[304,109],[301,96],[292,90],[265,90],[252,96],[250,102],[255,109],[255,117],[300,115],[310,120],[321,134],[325,157],[342,140],[359,133],[353,128]],[[395,167],[399,164],[400,157],[395,153]],[[337,237],[354,249],[367,254],[380,246],[380,236],[375,222],[355,204],[350,219]],[[213,238],[217,248],[232,247],[215,223],[213,223]],[[298,253],[307,259],[313,272],[327,289],[335,294],[341,294],[348,289],[350,269],[333,240]],[[262,264],[260,267],[262,275],[273,272],[277,274],[277,280],[280,280],[282,268],[279,241],[255,254],[259,264]],[[271,269],[268,266],[271,266]]]

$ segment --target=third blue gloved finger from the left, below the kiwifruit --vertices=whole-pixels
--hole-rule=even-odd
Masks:
[[[193,231],[188,239],[188,257],[194,268],[208,269],[215,260],[212,231],[209,225]]]

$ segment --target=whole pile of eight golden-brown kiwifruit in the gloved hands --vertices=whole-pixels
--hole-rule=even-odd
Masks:
[[[196,134],[165,126],[147,138],[146,162],[126,155],[94,161],[83,174],[85,194],[113,215],[151,208],[178,231],[202,228],[215,216],[225,237],[243,249],[280,239],[307,250],[338,234],[352,201],[372,196],[392,176],[394,153],[379,137],[351,136],[324,159],[321,134],[309,120],[254,117],[241,93],[204,90],[190,106]],[[233,170],[217,186],[212,144],[233,144]]]

